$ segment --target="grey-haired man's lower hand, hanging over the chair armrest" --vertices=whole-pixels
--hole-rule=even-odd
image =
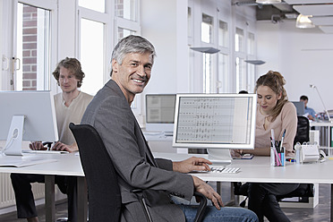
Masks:
[[[221,209],[221,207],[224,207],[222,198],[218,194],[218,192],[214,191],[214,189],[209,186],[209,184],[206,184],[197,176],[192,175],[192,178],[194,189],[196,192],[201,192],[203,195],[205,195],[217,209]]]

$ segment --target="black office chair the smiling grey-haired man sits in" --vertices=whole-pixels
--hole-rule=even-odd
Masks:
[[[80,150],[81,165],[86,176],[89,193],[89,221],[119,221],[122,201],[115,167],[103,141],[94,127],[88,124],[69,125]],[[207,199],[195,192],[201,203],[194,221],[201,221],[207,206]],[[142,206],[144,200],[138,195]],[[146,208],[144,208],[146,209]],[[152,221],[148,209],[147,221]]]

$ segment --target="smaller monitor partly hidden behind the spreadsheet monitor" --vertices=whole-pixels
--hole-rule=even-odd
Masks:
[[[174,120],[175,94],[146,94],[146,131],[172,135]]]

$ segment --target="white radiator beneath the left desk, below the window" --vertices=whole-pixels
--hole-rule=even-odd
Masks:
[[[44,198],[44,184],[32,184],[32,192],[35,200]],[[0,209],[15,205],[10,174],[0,173]]]

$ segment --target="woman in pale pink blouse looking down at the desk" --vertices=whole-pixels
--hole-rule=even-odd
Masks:
[[[294,157],[294,138],[297,131],[297,113],[293,103],[289,102],[286,96],[284,77],[274,71],[260,76],[256,82],[257,92],[257,116],[255,130],[254,149],[236,150],[233,155],[250,153],[257,156],[270,155],[271,129],[274,129],[275,139],[281,140],[286,130],[282,146],[286,149],[287,157]],[[255,212],[260,221],[264,216],[273,222],[286,222],[286,217],[279,207],[277,195],[285,195],[293,192],[299,184],[281,183],[246,183],[249,197],[248,209]]]

